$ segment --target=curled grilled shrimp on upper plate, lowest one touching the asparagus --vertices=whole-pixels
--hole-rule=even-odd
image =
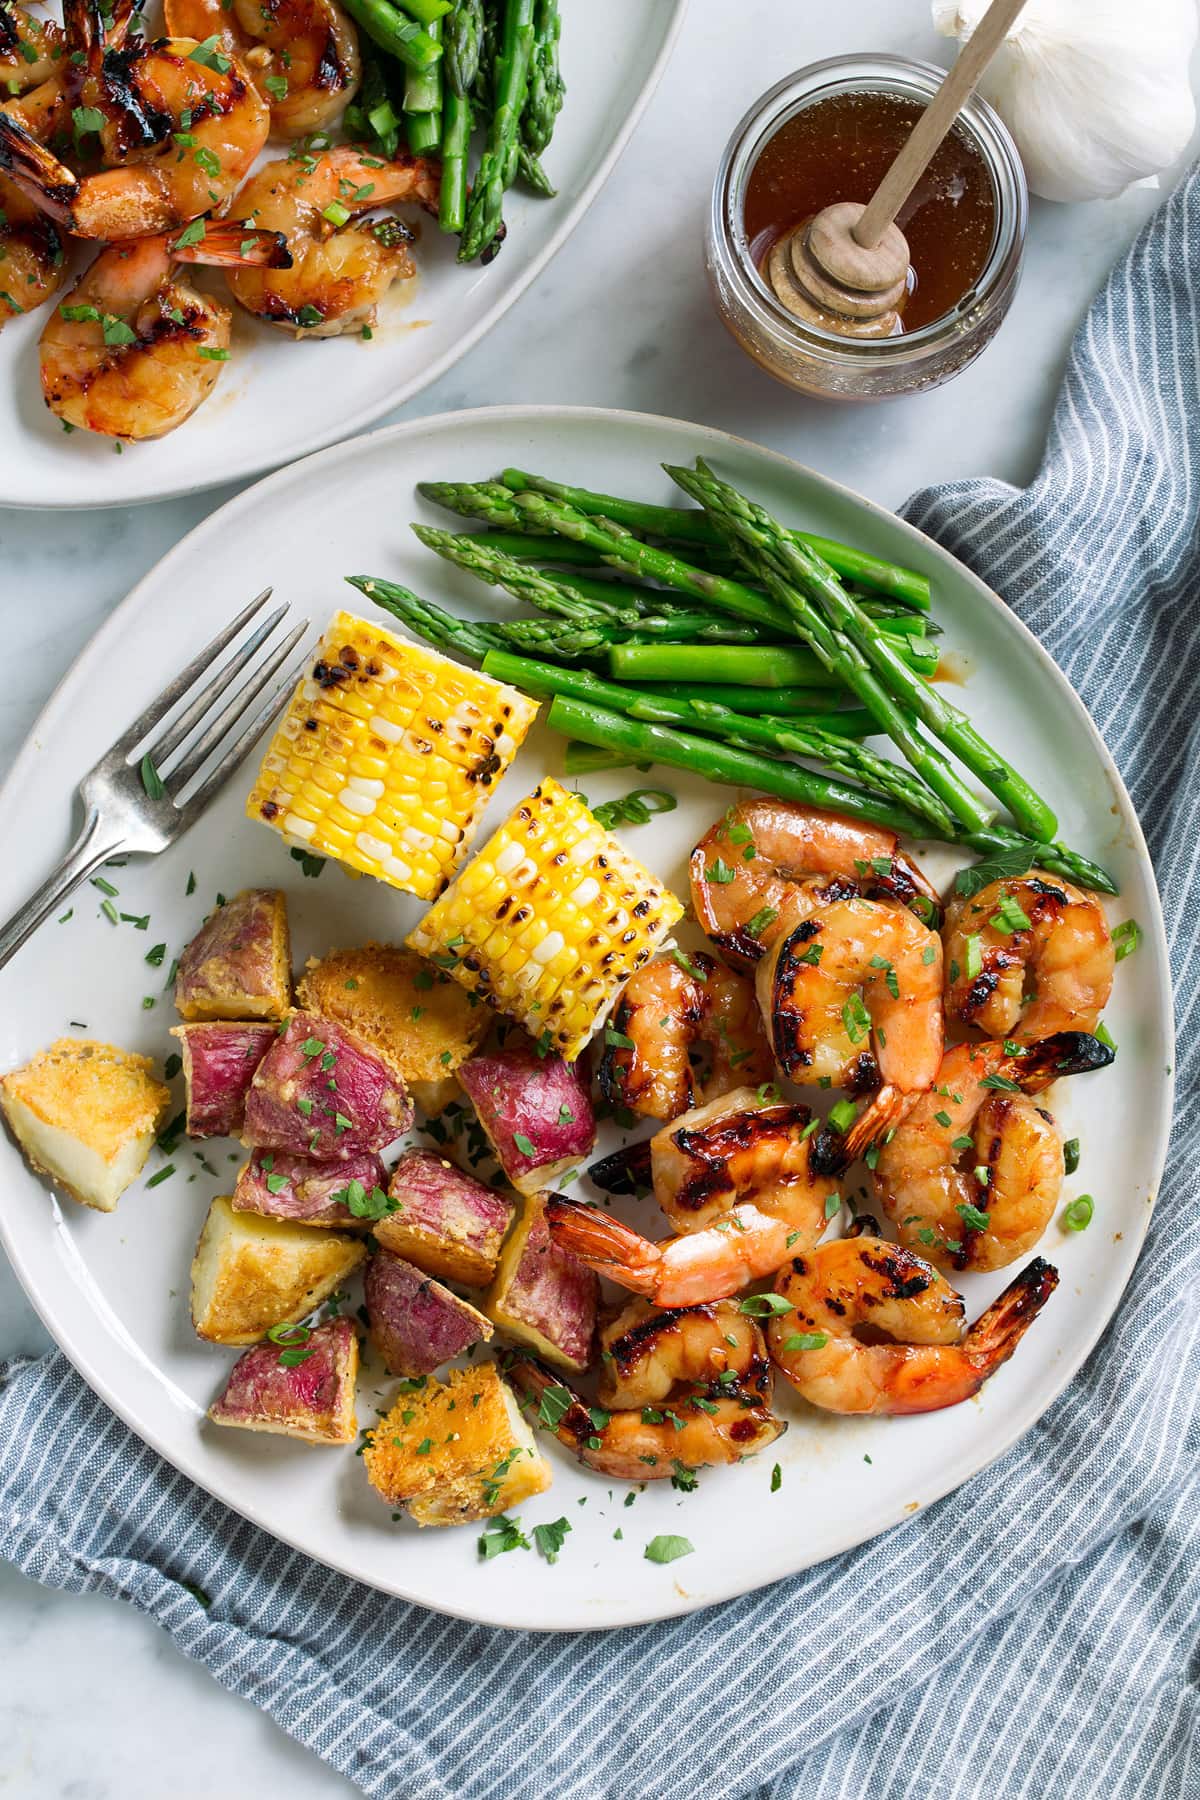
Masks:
[[[423,157],[401,153],[381,162],[354,144],[268,162],[246,182],[237,205],[257,225],[284,234],[291,268],[286,275],[232,274],[234,299],[297,337],[338,337],[372,324],[396,277],[412,275],[410,234],[399,220],[356,221],[354,214],[399,200],[435,212],[439,180],[439,166]]]

